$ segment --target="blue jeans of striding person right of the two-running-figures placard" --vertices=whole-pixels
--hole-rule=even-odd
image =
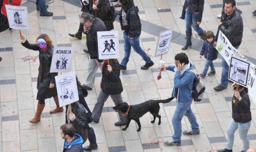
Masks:
[[[128,38],[128,35],[124,32],[124,40],[125,40],[125,57],[123,58],[121,65],[122,66],[126,66],[128,61],[129,61],[129,57],[131,54],[131,47],[134,49],[134,51],[139,54],[143,60],[146,63],[150,63],[151,59],[150,57],[146,54],[146,52],[140,47],[140,36],[138,36],[137,38],[134,39],[130,39]]]

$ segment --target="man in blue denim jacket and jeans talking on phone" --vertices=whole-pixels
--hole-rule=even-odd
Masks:
[[[191,103],[193,101],[191,91],[195,75],[193,72],[190,72],[190,70],[193,70],[193,66],[189,63],[188,57],[184,53],[179,53],[175,56],[175,65],[176,66],[163,66],[166,70],[175,72],[172,97],[175,97],[178,102],[172,117],[174,134],[172,140],[164,143],[165,146],[181,145],[181,120],[184,115],[187,116],[187,119],[191,124],[191,130],[183,131],[183,134],[194,135],[200,133],[196,116],[191,110]]]

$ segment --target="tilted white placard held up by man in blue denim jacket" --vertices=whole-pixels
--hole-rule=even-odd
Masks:
[[[155,56],[166,54],[169,51],[169,47],[172,39],[172,29],[161,31],[158,38],[158,45],[156,47]]]

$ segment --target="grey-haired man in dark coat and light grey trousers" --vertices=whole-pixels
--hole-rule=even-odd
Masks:
[[[94,18],[94,15],[89,13],[81,13],[80,22],[84,25],[84,33],[86,34],[86,45],[90,54],[88,63],[88,77],[84,85],[84,89],[91,90],[94,84],[95,75],[98,69],[99,60],[97,32],[106,31],[106,26],[100,18]]]

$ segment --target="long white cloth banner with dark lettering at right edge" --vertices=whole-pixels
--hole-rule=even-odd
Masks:
[[[222,55],[222,57],[225,59],[225,61],[230,65],[231,56],[240,58],[242,60],[246,60],[249,62],[244,55],[240,54],[239,51],[237,51],[236,48],[234,48],[231,43],[229,42],[228,38],[219,31],[219,37],[218,42],[216,45],[217,51],[219,51],[219,54]],[[248,78],[248,92],[250,97],[252,98],[253,102],[256,104],[256,66],[253,63],[250,63],[250,72],[249,72],[249,78]]]

